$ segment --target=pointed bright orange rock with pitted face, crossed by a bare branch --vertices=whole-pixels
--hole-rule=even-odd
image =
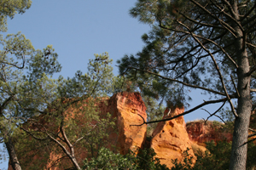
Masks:
[[[167,108],[163,118],[179,115],[183,111],[183,107],[171,109],[171,113],[167,116],[166,114],[169,112]],[[173,167],[172,160],[183,160],[183,151],[187,150],[187,148],[189,148],[189,155],[195,157],[183,116],[171,121],[159,122],[152,136],[151,148],[154,149],[156,157],[160,159],[160,163],[166,164],[169,168]]]

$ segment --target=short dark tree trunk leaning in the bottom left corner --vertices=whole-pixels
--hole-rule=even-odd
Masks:
[[[13,144],[11,137],[8,136],[7,141],[4,143],[9,153],[9,161],[11,163],[11,166],[14,170],[21,170],[20,162],[18,161],[18,157],[15,153],[15,144]]]

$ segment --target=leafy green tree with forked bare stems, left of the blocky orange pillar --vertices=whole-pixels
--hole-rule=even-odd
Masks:
[[[38,59],[41,58],[39,56]],[[100,106],[107,105],[104,100],[108,99],[107,94],[112,86],[111,62],[108,53],[95,54],[95,59],[90,59],[86,74],[77,71],[73,78],[59,77],[57,80],[42,75],[38,80],[38,87],[43,89],[39,88],[38,93],[44,96],[40,100],[43,105],[35,107],[39,102],[32,102],[31,110],[28,111],[35,116],[30,114],[28,122],[20,126],[24,133],[16,139],[18,156],[28,153],[26,160],[22,160],[22,167],[42,169],[46,166],[45,162],[48,162],[52,167],[70,167],[73,164],[73,167],[79,169],[82,162],[79,154],[86,153],[88,158],[96,157],[102,146],[114,144],[108,135],[117,133],[115,120],[111,114],[99,110]],[[33,75],[37,71],[31,72]],[[17,130],[17,136],[18,134]],[[42,150],[44,146],[47,150]],[[42,153],[40,159],[33,163],[27,161],[33,159],[38,152]],[[50,154],[59,156],[59,160],[50,159]],[[61,161],[62,159],[69,161]]]

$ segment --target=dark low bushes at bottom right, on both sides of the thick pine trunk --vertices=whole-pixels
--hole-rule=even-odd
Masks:
[[[195,153],[197,157],[195,164],[192,162],[192,157],[189,156],[188,150],[183,152],[184,159],[182,162],[173,160],[172,170],[207,170],[207,169],[229,169],[230,164],[230,153],[232,143],[227,141],[208,142],[207,150],[202,152],[201,150]],[[247,153],[247,169],[253,169],[256,167],[255,163],[255,144],[248,144]]]

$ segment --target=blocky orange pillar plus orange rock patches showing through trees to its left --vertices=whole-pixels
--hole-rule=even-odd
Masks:
[[[84,102],[86,105],[86,102]],[[107,105],[106,105],[107,104]],[[83,104],[84,105],[84,104]],[[114,94],[110,99],[99,99],[96,102],[96,107],[98,108],[97,111],[99,111],[100,116],[105,116],[108,112],[111,114],[112,118],[115,118],[115,124],[116,128],[118,129],[118,133],[109,133],[108,141],[111,141],[109,143],[109,148],[112,147],[112,145],[117,146],[116,148],[119,149],[119,152],[121,154],[128,153],[129,150],[137,150],[139,148],[143,147],[143,144],[146,140],[146,132],[147,132],[147,125],[143,126],[130,126],[132,124],[138,125],[143,123],[143,119],[147,120],[147,114],[146,114],[146,106],[143,103],[143,99],[139,93],[118,93]],[[70,108],[67,111],[71,112],[71,114],[68,114],[69,117],[66,117],[67,119],[78,119],[79,124],[78,126],[81,126],[84,121],[84,116],[81,114],[83,112],[83,107],[81,106],[80,113],[76,111],[76,109]],[[138,116],[140,115],[140,116]],[[142,119],[142,117],[143,119]],[[40,122],[46,126],[49,126],[44,122],[44,119]],[[29,124],[29,123],[28,123]],[[93,122],[92,122],[93,124]],[[35,129],[36,127],[33,127],[33,125],[30,125],[32,129]],[[55,125],[53,125],[54,127]],[[57,128],[55,128],[57,129]],[[57,130],[59,131],[59,130]],[[29,147],[29,146],[27,146]],[[75,149],[77,161],[79,163],[83,164],[82,162],[87,157],[86,150],[83,148],[77,147],[79,149]],[[38,151],[36,151],[38,152]],[[40,153],[28,153],[33,154],[32,157],[32,164],[35,164],[36,161],[41,160]],[[55,155],[54,153],[49,154],[49,159],[51,159],[51,162],[57,161],[61,156]],[[26,161],[26,156],[23,156],[20,158],[20,162]],[[62,164],[64,167],[72,167],[72,162],[70,162],[68,159],[62,159],[59,161],[60,164]],[[39,167],[45,166],[44,164],[38,165]],[[38,169],[43,169],[38,168]],[[46,165],[46,169],[55,169],[55,170],[61,170],[63,167],[51,167],[49,161]],[[9,164],[9,170],[12,170],[12,167]],[[26,169],[29,169],[27,167]]]

